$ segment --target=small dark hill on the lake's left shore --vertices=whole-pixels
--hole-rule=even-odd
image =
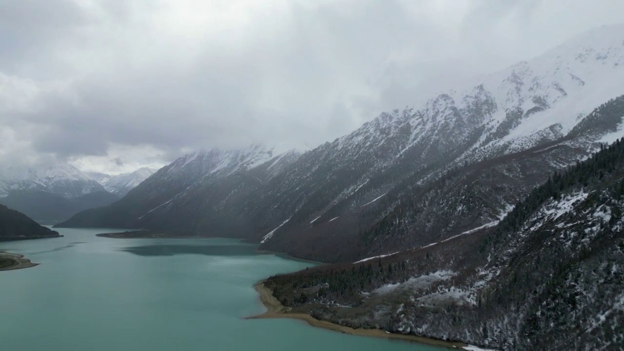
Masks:
[[[0,205],[0,241],[59,236],[58,232],[42,227],[26,215]]]

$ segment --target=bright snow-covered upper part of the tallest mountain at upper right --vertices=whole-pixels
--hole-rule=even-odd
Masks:
[[[472,136],[464,157],[520,151],[565,136],[595,107],[623,95],[623,67],[624,25],[598,27],[529,61],[456,82],[394,123],[409,122],[406,149],[427,151],[442,137],[452,150],[449,142]]]

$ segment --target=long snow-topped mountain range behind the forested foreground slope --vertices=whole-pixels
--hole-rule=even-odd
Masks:
[[[624,26],[594,29],[384,112],[293,157],[279,174],[268,176],[273,154],[261,148],[190,154],[130,192],[127,204],[67,225],[172,225],[351,262],[452,237],[496,220],[548,174],[615,139],[623,44]]]

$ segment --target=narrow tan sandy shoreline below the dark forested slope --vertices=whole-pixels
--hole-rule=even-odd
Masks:
[[[344,325],[333,324],[325,320],[314,319],[311,315],[308,314],[291,312],[290,307],[285,307],[281,305],[280,302],[275,298],[275,296],[273,296],[271,290],[265,287],[264,282],[259,282],[258,284],[254,285],[254,288],[256,289],[258,294],[260,294],[260,300],[262,304],[265,305],[267,311],[263,314],[246,317],[246,319],[299,319],[305,320],[305,322],[312,325],[313,327],[329,329],[333,330],[334,332],[341,332],[344,334],[404,340],[407,342],[416,342],[419,344],[447,347],[449,349],[463,349],[463,347],[467,346],[466,344],[462,344],[460,342],[446,342],[444,340],[417,337],[416,335],[393,334],[380,329],[354,329],[351,327],[346,327]]]

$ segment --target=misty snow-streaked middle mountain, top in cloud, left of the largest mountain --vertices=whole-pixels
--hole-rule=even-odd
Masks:
[[[219,205],[237,199],[237,192],[258,189],[263,182],[288,169],[298,156],[296,151],[274,156],[273,149],[259,144],[245,149],[193,152],[162,167],[119,202],[101,212],[76,215],[64,225],[89,225],[97,221],[102,225],[123,223],[125,227],[147,227],[146,224],[161,220],[169,226],[188,224],[185,222],[188,216],[202,212],[208,215],[204,206]],[[172,220],[170,215],[178,210],[180,213]],[[194,230],[194,227],[180,229]]]

